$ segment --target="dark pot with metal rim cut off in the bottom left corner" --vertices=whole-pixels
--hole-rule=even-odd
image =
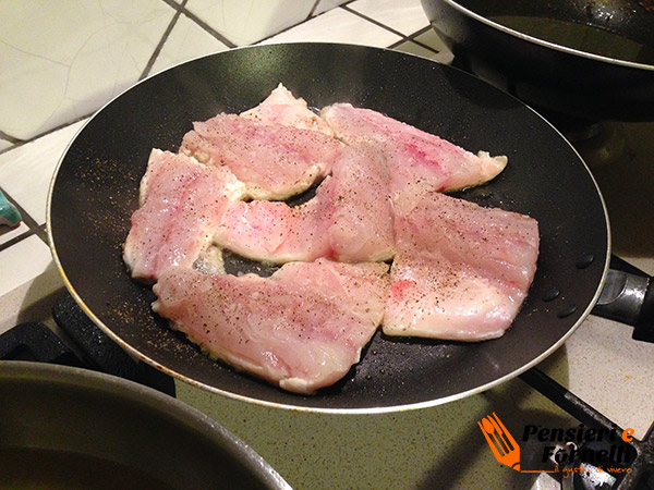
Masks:
[[[121,378],[0,362],[0,489],[290,489],[198,411]]]

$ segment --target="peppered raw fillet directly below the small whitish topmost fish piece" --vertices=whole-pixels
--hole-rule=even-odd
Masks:
[[[286,199],[331,171],[342,144],[318,131],[258,123],[218,114],[193,123],[181,152],[211,166],[227,166],[253,199]]]

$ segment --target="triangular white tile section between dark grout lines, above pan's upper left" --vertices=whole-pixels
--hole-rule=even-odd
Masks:
[[[220,42],[185,15],[180,15],[161,48],[150,74],[204,54],[225,51]]]

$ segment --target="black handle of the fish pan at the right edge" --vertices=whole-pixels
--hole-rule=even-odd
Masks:
[[[617,267],[616,267],[617,266]],[[633,339],[654,342],[654,279],[614,257],[593,315],[631,324]]]

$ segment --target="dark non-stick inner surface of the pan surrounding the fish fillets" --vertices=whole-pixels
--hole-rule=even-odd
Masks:
[[[152,311],[154,294],[130,279],[121,258],[150,149],[175,151],[193,121],[255,106],[280,82],[316,108],[351,102],[471,151],[509,157],[495,181],[458,194],[540,222],[536,277],[504,338],[464,344],[378,332],[342,381],[315,396],[300,396],[210,360]],[[243,48],[140,83],[99,111],[73,140],[49,206],[50,238],[69,290],[120,345],[208,390],[311,411],[436,405],[517,376],[560,346],[588,315],[609,256],[608,222],[595,182],[538,114],[458,70],[361,46]]]

